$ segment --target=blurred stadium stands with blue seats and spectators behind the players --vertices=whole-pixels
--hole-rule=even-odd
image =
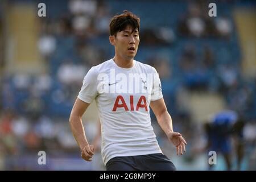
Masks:
[[[164,154],[179,170],[207,170],[204,119],[233,109],[246,117],[242,170],[255,170],[256,2],[213,1],[217,17],[209,17],[210,2],[1,0],[0,169],[105,169],[100,151],[91,163],[80,158],[68,118],[86,72],[114,55],[110,18],[129,10],[141,18],[135,59],[158,70],[174,129],[188,142],[176,156],[152,116]],[[90,142],[97,118],[92,104],[84,117]],[[42,150],[46,165],[38,164]],[[214,169],[226,169],[221,155]]]

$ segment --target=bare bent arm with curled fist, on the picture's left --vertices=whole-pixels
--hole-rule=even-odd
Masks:
[[[82,125],[82,114],[84,114],[89,105],[77,98],[69,118],[69,125],[71,126],[73,136],[82,151],[82,158],[88,161],[92,158],[93,148],[90,148],[85,136],[84,126]]]

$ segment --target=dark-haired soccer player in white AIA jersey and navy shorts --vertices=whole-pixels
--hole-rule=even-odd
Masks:
[[[95,100],[107,170],[176,170],[156,140],[149,106],[168,140],[176,146],[177,155],[185,152],[187,143],[172,129],[156,69],[134,60],[139,28],[140,19],[129,11],[112,18],[109,41],[115,55],[86,74],[69,123],[82,159],[91,161],[94,147],[86,139],[81,117]]]

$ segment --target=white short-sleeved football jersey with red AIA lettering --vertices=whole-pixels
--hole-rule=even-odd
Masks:
[[[110,59],[89,70],[78,98],[96,101],[105,165],[115,156],[162,153],[150,118],[150,102],[162,97],[160,78],[150,65],[134,60],[132,68],[121,68]]]

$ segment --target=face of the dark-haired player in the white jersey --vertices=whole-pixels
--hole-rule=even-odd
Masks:
[[[116,53],[123,59],[133,59],[137,53],[139,46],[139,32],[133,31],[133,28],[127,26],[125,30],[117,32],[117,36],[113,36],[113,45]]]

